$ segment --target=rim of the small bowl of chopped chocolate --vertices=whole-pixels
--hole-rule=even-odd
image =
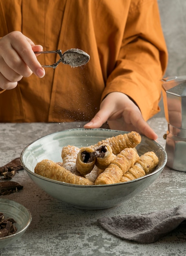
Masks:
[[[8,201],[8,202],[7,202]],[[31,221],[32,221],[32,214],[31,214],[31,211],[27,208],[27,207],[25,207],[23,204],[20,204],[19,202],[17,202],[17,201],[15,201],[15,200],[10,200],[10,199],[8,199],[8,198],[0,198],[0,204],[1,203],[9,203],[9,205],[11,205],[11,203],[12,202],[14,202],[15,204],[17,204],[17,205],[20,205],[21,207],[23,207],[26,211],[27,211],[27,213],[29,213],[29,220],[27,221],[27,223],[24,225],[24,227],[20,230],[20,231],[16,231],[14,234],[12,234],[12,235],[9,235],[9,236],[4,236],[4,237],[1,237],[0,238],[0,242],[2,241],[2,240],[7,240],[7,239],[9,239],[9,238],[12,238],[12,237],[14,237],[14,236],[18,236],[19,234],[21,234],[22,232],[24,232],[28,227],[29,227],[29,225],[31,224]],[[11,216],[11,218],[13,218],[13,216]],[[16,222],[15,222],[16,223]]]

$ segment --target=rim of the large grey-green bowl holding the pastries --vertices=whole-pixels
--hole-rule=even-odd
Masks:
[[[142,180],[142,179],[145,179],[145,178],[147,178],[147,177],[149,177],[149,176],[152,176],[152,175],[158,173],[159,171],[162,171],[163,168],[164,168],[165,165],[166,165],[166,162],[167,162],[167,154],[166,154],[166,151],[164,150],[164,148],[163,148],[157,141],[154,141],[154,143],[157,144],[157,146],[159,146],[159,148],[161,148],[161,149],[162,149],[162,152],[164,153],[164,162],[163,162],[162,166],[159,167],[159,168],[157,168],[155,171],[144,175],[143,177],[139,177],[139,178],[137,178],[137,179],[130,180],[130,181],[127,181],[127,182],[120,182],[120,183],[114,183],[114,184],[102,184],[102,185],[78,185],[78,184],[71,184],[71,183],[61,182],[61,181],[58,181],[58,180],[52,180],[52,179],[43,177],[43,176],[41,176],[41,175],[38,175],[37,173],[33,173],[33,171],[30,171],[30,170],[27,168],[27,166],[25,166],[25,164],[24,164],[24,162],[23,162],[23,155],[24,155],[24,152],[27,150],[27,148],[28,148],[31,144],[33,144],[34,142],[36,142],[36,141],[38,141],[38,140],[40,140],[40,139],[42,139],[42,138],[44,138],[44,137],[49,136],[49,135],[55,135],[55,134],[57,134],[57,133],[68,132],[68,131],[74,131],[74,130],[76,130],[76,131],[77,131],[77,130],[85,130],[85,131],[87,131],[87,130],[89,130],[89,131],[90,131],[90,130],[108,130],[108,131],[111,131],[111,132],[121,132],[122,134],[124,134],[124,133],[129,133],[128,131],[112,130],[112,129],[105,129],[105,128],[92,128],[92,129],[73,128],[73,129],[61,130],[61,131],[58,131],[58,132],[51,132],[51,133],[49,133],[49,134],[47,134],[47,135],[44,135],[44,136],[42,136],[42,137],[40,137],[40,138],[38,138],[38,139],[35,139],[34,141],[32,141],[31,143],[29,143],[29,144],[22,150],[21,155],[20,155],[20,162],[21,162],[21,165],[22,165],[22,167],[24,168],[24,170],[26,170],[29,174],[33,175],[34,177],[38,177],[38,178],[40,178],[40,179],[42,179],[42,180],[46,180],[46,181],[52,182],[52,183],[61,184],[61,185],[64,185],[64,186],[73,186],[73,187],[81,187],[81,188],[87,188],[87,187],[91,187],[91,188],[95,187],[95,188],[97,188],[97,187],[105,187],[105,186],[119,186],[119,185],[122,185],[122,184],[130,184],[130,183],[136,182],[136,181],[138,181],[138,180]],[[143,138],[149,139],[149,138],[146,137],[145,135],[140,134],[140,136],[143,137]],[[150,140],[150,139],[149,139],[149,140]],[[152,140],[152,141],[153,141],[153,140]]]

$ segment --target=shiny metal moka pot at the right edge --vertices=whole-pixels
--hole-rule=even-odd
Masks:
[[[167,77],[162,80],[165,117],[167,166],[186,171],[186,76]]]

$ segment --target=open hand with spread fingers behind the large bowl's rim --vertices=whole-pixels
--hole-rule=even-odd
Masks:
[[[134,130],[150,139],[157,139],[157,134],[144,121],[140,109],[122,92],[108,94],[100,105],[100,111],[84,128],[100,128],[106,121],[113,130]]]

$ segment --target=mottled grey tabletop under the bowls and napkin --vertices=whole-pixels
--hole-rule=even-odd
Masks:
[[[158,142],[165,146],[164,117],[151,119]],[[49,133],[81,124],[0,124],[0,166],[19,157],[22,149]],[[25,171],[19,171],[13,181],[24,186],[18,193],[4,195],[30,209],[33,219],[20,240],[0,249],[1,256],[80,256],[80,255],[186,255],[186,230],[178,227],[161,240],[140,244],[117,238],[97,225],[101,216],[118,216],[168,209],[186,203],[186,173],[166,167],[159,178],[145,191],[119,206],[106,210],[81,210],[53,199],[39,189]]]

